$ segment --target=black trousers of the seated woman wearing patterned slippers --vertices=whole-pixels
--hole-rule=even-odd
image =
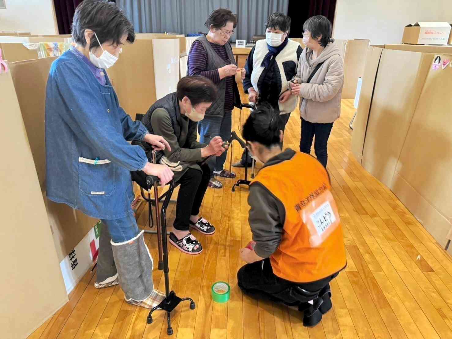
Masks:
[[[178,180],[180,187],[176,202],[176,218],[173,224],[178,231],[188,231],[190,215],[196,216],[199,213],[199,207],[209,184],[209,165],[201,165],[201,170],[202,172],[189,168]]]

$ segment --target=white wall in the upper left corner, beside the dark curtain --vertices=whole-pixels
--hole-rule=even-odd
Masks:
[[[0,31],[58,34],[52,0],[7,0],[0,9]]]

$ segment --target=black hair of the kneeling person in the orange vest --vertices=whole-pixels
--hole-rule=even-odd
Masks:
[[[246,141],[257,141],[270,148],[279,145],[279,112],[268,104],[260,104],[254,109],[242,129]]]

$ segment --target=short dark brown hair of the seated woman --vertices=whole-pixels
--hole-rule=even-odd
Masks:
[[[217,99],[215,84],[201,75],[184,76],[177,83],[177,99],[190,99],[193,106],[200,103],[211,103]]]

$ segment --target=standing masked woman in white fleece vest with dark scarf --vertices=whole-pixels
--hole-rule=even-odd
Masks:
[[[271,14],[265,23],[265,40],[256,42],[245,64],[243,90],[248,92],[250,103],[267,103],[279,112],[279,128],[284,131],[290,113],[297,106],[297,98],[291,95],[289,81],[297,74],[301,46],[289,40],[291,19],[283,13]],[[281,145],[282,147],[282,145]],[[234,167],[251,164],[242,159]]]

